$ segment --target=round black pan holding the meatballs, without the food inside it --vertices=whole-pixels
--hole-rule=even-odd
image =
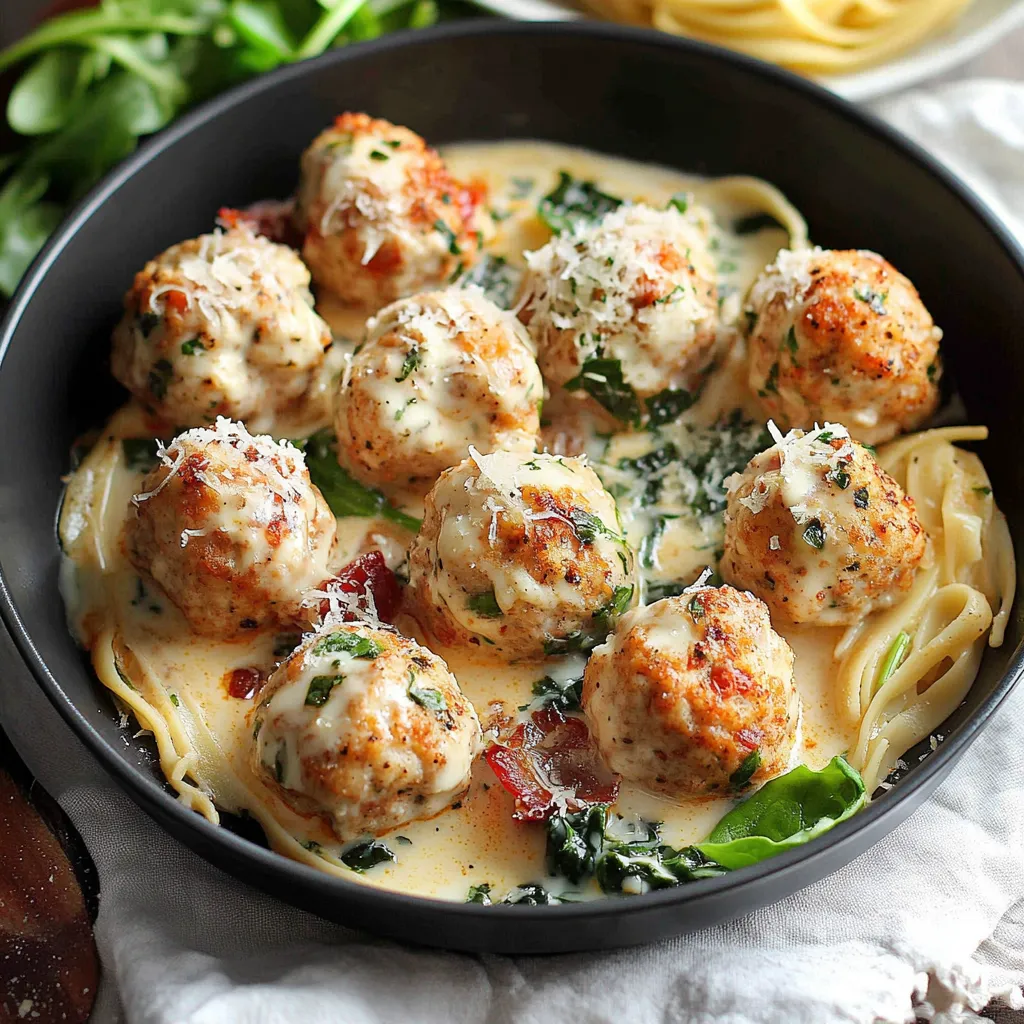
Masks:
[[[757,61],[599,25],[474,22],[338,50],[207,104],[97,186],[26,278],[0,338],[0,611],[39,685],[139,806],[213,863],[324,916],[431,945],[543,952],[643,942],[781,899],[866,850],[928,797],[1017,681],[1019,612],[943,727],[946,739],[863,813],[756,867],[639,897],[481,907],[331,878],[185,810],[152,752],[126,746],[65,625],[54,538],[72,440],[121,397],[108,370],[121,295],[153,254],[209,229],[218,207],[287,196],[299,153],[343,110],[411,125],[432,142],[536,137],[774,182],[819,244],[878,250],[916,283],[945,329],[968,410],[991,427],[981,452],[1024,543],[1015,394],[1024,261],[977,200],[877,121]]]

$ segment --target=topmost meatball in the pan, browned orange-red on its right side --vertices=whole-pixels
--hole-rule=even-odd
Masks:
[[[342,114],[302,155],[302,258],[317,284],[379,309],[470,265],[479,201],[415,132]]]

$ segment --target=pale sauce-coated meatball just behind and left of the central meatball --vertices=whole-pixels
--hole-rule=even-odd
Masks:
[[[478,289],[399,299],[342,381],[338,461],[371,485],[425,492],[471,444],[532,452],[543,397],[525,330]]]

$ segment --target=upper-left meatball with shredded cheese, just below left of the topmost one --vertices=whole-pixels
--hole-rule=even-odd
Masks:
[[[309,271],[246,227],[171,246],[135,275],[114,332],[114,376],[177,427],[218,416],[268,430],[331,343]]]

